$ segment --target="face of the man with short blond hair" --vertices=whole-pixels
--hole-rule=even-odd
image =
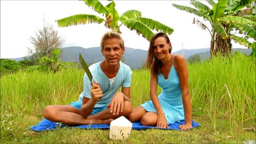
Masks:
[[[101,49],[102,55],[105,57],[109,66],[118,66],[122,54],[124,54],[124,47],[120,46],[118,38],[109,38],[103,43],[104,47]]]

